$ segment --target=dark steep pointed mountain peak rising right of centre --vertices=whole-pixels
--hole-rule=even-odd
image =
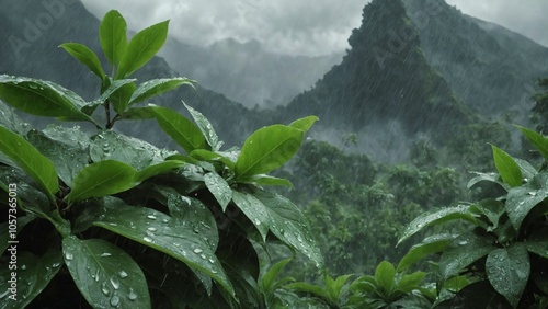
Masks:
[[[367,4],[362,26],[349,43],[352,48],[343,61],[298,95],[288,105],[288,115],[317,114],[323,124],[350,130],[396,121],[403,136],[436,138],[473,119],[427,62],[400,0]]]

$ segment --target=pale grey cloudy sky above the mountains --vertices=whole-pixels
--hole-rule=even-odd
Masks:
[[[209,45],[258,39],[272,52],[326,55],[347,48],[368,0],[82,0],[99,18],[118,10],[132,30],[171,20],[170,34]],[[495,22],[548,46],[547,0],[447,0],[464,13]],[[524,4],[526,3],[526,4]]]

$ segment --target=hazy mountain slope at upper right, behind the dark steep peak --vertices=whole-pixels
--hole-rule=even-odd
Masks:
[[[548,48],[445,1],[404,4],[425,58],[465,104],[493,117],[530,110],[532,85],[548,76]]]

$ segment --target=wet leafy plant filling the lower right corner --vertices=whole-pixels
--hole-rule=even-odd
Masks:
[[[548,159],[545,151],[548,138],[518,128]],[[455,219],[470,225],[463,233],[439,233],[425,239],[400,262],[407,267],[430,254],[441,253],[436,300],[439,308],[471,304],[529,308],[540,304],[540,299],[546,301],[548,296],[546,168],[537,171],[527,161],[515,159],[495,146],[492,150],[498,174],[478,174],[469,186],[488,181],[501,186],[504,194],[421,215],[400,237],[401,243],[426,227]],[[454,289],[450,283],[456,279],[463,284]]]

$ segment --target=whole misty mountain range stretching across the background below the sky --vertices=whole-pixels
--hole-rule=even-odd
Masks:
[[[425,7],[432,3],[437,3],[434,10]],[[52,80],[87,100],[96,98],[96,77],[57,48],[65,42],[82,43],[109,67],[96,38],[100,21],[81,2],[70,1],[28,46],[13,48],[12,38],[24,39],[25,27],[44,12],[43,5],[32,1],[0,3],[0,27],[9,30],[0,32],[0,73]],[[429,18],[420,20],[421,12]],[[548,75],[545,62],[535,62],[547,48],[529,41],[523,44],[523,36],[499,27],[481,26],[481,21],[444,1],[374,0],[364,8],[363,18],[362,26],[350,35],[351,48],[342,61],[336,55],[275,55],[256,41],[225,39],[197,47],[170,38],[161,53],[164,58],[155,57],[135,77],[139,81],[175,76],[198,80],[197,90],[183,87],[150,103],[184,114],[184,100],[210,118],[227,145],[240,145],[263,125],[316,114],[320,122],[311,130],[312,138],[341,145],[343,135],[357,133],[361,151],[374,159],[400,161],[406,160],[416,138],[442,142],[459,126],[479,118],[496,117],[513,108],[525,115],[528,110],[520,105],[527,101],[524,84]],[[521,45],[510,48],[512,42]],[[528,61],[529,57],[535,60]],[[175,69],[178,66],[181,69]],[[225,87],[230,94],[205,85]],[[302,87],[308,90],[287,100],[287,106],[246,107],[266,106],[261,105],[266,100],[277,105]],[[246,106],[228,99],[238,95],[247,95],[242,99],[249,100]],[[155,145],[173,146],[155,126],[151,122],[124,122],[118,128]]]

